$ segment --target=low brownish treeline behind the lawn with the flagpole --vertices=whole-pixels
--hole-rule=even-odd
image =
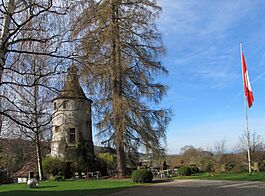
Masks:
[[[260,135],[253,132],[250,143],[251,169],[253,172],[264,172],[264,142]],[[187,145],[181,148],[180,155],[167,156],[167,161],[171,167],[196,166],[201,172],[248,172],[247,144],[242,135],[230,151],[225,146],[225,140],[216,142],[211,150]]]

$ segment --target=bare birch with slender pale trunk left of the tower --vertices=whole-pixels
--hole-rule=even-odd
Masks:
[[[70,7],[56,0],[0,3],[0,103],[5,104],[0,108],[0,128],[3,130],[2,119],[12,121],[13,135],[34,142],[40,179],[40,141],[51,122],[48,96],[57,91],[48,80],[73,60],[67,48],[67,22],[62,22]],[[11,134],[10,127],[5,126],[5,130]]]

